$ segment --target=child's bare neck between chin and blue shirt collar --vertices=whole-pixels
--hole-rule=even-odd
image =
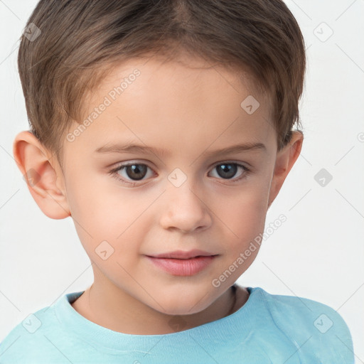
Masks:
[[[120,289],[115,293],[105,285],[94,283],[72,306],[85,319],[110,330],[134,335],[158,335],[184,331],[222,319],[242,305],[240,302],[239,306],[237,301],[236,287],[230,287],[203,311],[191,315],[169,315],[152,309]]]

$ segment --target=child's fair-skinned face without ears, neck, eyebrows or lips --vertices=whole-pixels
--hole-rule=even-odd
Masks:
[[[193,314],[218,299],[257,255],[255,244],[237,264],[263,232],[284,180],[274,179],[276,133],[267,99],[223,68],[145,62],[124,63],[88,99],[92,123],[82,132],[74,124],[64,142],[64,193],[100,292],[127,293],[167,314]],[[130,76],[136,69],[140,74]],[[114,87],[124,77],[118,95]],[[259,102],[252,114],[240,106],[249,95]],[[97,151],[127,143],[165,153]],[[237,144],[264,146],[214,154]],[[109,174],[127,162],[139,169]],[[147,257],[196,249],[216,257],[191,275],[166,272]],[[235,271],[220,279],[234,262]]]

